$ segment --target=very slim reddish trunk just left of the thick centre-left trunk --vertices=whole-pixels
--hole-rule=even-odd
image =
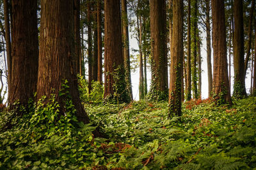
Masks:
[[[101,29],[101,1],[97,1],[97,38],[98,38],[98,78],[102,83],[102,29]]]

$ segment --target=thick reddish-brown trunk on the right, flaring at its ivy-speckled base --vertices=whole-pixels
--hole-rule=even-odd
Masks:
[[[232,104],[228,82],[227,44],[224,1],[212,4],[212,45],[213,45],[213,93],[221,103]]]

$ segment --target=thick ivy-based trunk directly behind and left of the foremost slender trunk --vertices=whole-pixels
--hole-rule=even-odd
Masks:
[[[166,100],[168,95],[168,65],[166,44],[165,0],[150,1],[150,33],[152,50],[152,100]]]

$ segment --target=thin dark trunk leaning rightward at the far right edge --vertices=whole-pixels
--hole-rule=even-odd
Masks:
[[[242,1],[242,0],[241,0]],[[236,1],[235,1],[236,3]],[[242,1],[243,4],[243,1]],[[250,10],[250,19],[249,19],[249,26],[248,26],[248,42],[246,45],[246,57],[244,61],[244,79],[246,77],[246,70],[248,68],[248,62],[250,59],[250,51],[252,47],[252,21],[253,21],[253,12],[255,9],[255,0],[252,0],[251,10]]]

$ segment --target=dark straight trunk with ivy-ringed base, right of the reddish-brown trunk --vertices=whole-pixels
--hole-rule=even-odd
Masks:
[[[234,96],[241,98],[246,95],[244,82],[244,25],[243,1],[234,1]]]

